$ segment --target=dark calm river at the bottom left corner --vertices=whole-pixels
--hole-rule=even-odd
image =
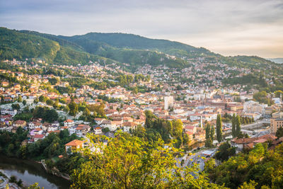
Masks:
[[[69,188],[69,181],[64,178],[50,175],[45,172],[41,164],[34,161],[8,158],[0,156],[0,169],[4,170],[8,176],[16,176],[17,179],[23,181],[27,185],[38,183],[40,187],[45,189],[52,188]]]

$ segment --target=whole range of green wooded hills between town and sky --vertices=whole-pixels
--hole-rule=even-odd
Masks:
[[[267,67],[274,64],[260,57],[224,57],[203,47],[181,42],[155,40],[125,33],[87,33],[71,37],[29,30],[0,28],[0,59],[41,58],[54,64],[106,63],[129,64],[134,70],[144,64],[188,67],[194,59],[224,62],[237,67]],[[104,62],[104,61],[103,61]]]

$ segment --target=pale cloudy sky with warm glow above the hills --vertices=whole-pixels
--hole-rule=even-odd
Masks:
[[[0,26],[133,33],[226,56],[283,57],[283,0],[0,0]]]

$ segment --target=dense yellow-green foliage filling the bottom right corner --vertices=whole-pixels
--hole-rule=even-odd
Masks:
[[[255,181],[256,188],[283,188],[283,144],[267,150],[267,144],[257,144],[248,154],[238,154],[209,171],[217,184],[237,188],[244,182]],[[226,158],[225,158],[226,159]]]

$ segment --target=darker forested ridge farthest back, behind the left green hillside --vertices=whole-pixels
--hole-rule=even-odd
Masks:
[[[86,51],[92,50],[85,41],[94,42],[96,45],[110,45],[116,48],[133,50],[158,50],[168,55],[178,57],[217,56],[216,54],[202,47],[192,47],[181,42],[170,40],[155,40],[144,38],[139,35],[125,33],[87,33],[86,35],[74,35],[71,37],[58,36],[72,42],[79,43]]]

